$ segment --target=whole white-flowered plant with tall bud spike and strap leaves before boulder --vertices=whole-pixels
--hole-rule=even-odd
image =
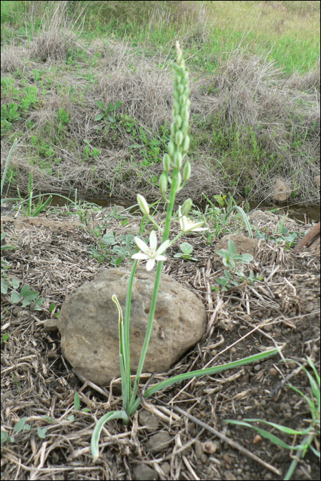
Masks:
[[[140,206],[140,210],[144,216],[153,223],[155,228],[162,234],[161,245],[157,249],[157,234],[155,230],[151,232],[149,238],[149,246],[144,243],[139,237],[135,237],[135,243],[139,247],[140,252],[133,254],[132,258],[135,259],[133,263],[133,268],[131,270],[131,275],[129,277],[129,285],[127,289],[126,296],[126,308],[124,317],[122,316],[122,311],[120,304],[118,303],[117,297],[113,295],[113,302],[118,307],[119,315],[119,331],[120,331],[120,367],[122,376],[122,398],[123,398],[123,410],[122,411],[112,411],[104,414],[102,418],[96,424],[93,429],[93,435],[91,437],[91,452],[93,458],[96,459],[99,456],[98,443],[100,438],[100,433],[104,423],[111,419],[122,419],[123,423],[128,424],[130,421],[130,416],[132,416],[137,410],[137,407],[141,403],[140,396],[137,397],[138,383],[140,382],[140,376],[142,374],[142,369],[144,367],[144,361],[148,349],[148,344],[151,339],[151,333],[153,329],[153,320],[155,315],[155,308],[157,302],[157,294],[159,290],[159,283],[162,273],[163,262],[166,260],[164,256],[166,249],[170,247],[176,240],[183,234],[188,232],[200,232],[206,230],[206,227],[201,227],[203,222],[195,222],[188,219],[187,214],[192,207],[192,199],[187,199],[182,206],[179,206],[179,227],[181,231],[173,240],[169,240],[170,233],[170,223],[173,220],[173,208],[175,203],[175,196],[179,190],[184,188],[184,185],[191,175],[190,162],[186,159],[186,154],[188,152],[188,147],[190,145],[190,137],[188,136],[188,119],[190,117],[190,89],[188,88],[188,69],[183,60],[181,47],[179,42],[176,43],[177,51],[177,64],[174,64],[174,103],[173,103],[173,123],[170,126],[170,141],[168,142],[168,152],[165,153],[163,158],[164,172],[159,178],[159,190],[166,200],[167,212],[164,229],[161,229],[159,225],[154,221],[153,216],[150,214],[149,206],[146,199],[141,195],[137,194],[137,203]],[[185,160],[185,162],[184,162]],[[183,170],[183,184],[181,184],[182,175],[181,169]],[[168,189],[168,183],[170,184],[170,192],[168,199],[165,194]],[[131,370],[130,370],[130,349],[129,349],[129,317],[131,311],[131,292],[133,289],[133,281],[135,277],[135,270],[137,264],[140,260],[146,260],[146,270],[151,271],[157,263],[155,283],[153,289],[153,297],[151,300],[151,306],[149,309],[148,325],[146,329],[146,335],[144,339],[144,345],[142,347],[142,353],[140,356],[140,362],[137,367],[137,372],[135,376],[135,381],[133,388],[131,387]],[[259,353],[258,355],[250,356],[234,363],[229,363],[226,365],[215,366],[214,368],[208,368],[206,370],[197,370],[192,372],[186,372],[180,374],[179,376],[172,377],[162,383],[158,383],[146,390],[144,397],[151,396],[157,390],[166,388],[168,385],[172,385],[184,379],[192,379],[192,377],[200,377],[203,375],[214,374],[215,372],[221,372],[229,368],[235,368],[237,366],[242,366],[245,363],[253,362],[258,359],[263,359],[270,355],[274,355],[278,352],[278,348],[267,350],[264,353]]]

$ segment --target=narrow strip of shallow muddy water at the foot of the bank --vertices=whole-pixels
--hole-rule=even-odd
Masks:
[[[74,201],[74,197],[70,198],[71,201]],[[80,200],[80,199],[78,199]],[[91,202],[95,203],[97,205],[100,205],[100,207],[111,207],[115,204],[117,205],[123,205],[124,208],[129,208],[133,203],[128,203],[128,201],[120,201],[120,199],[114,199],[111,197],[110,199],[81,199],[86,202]],[[61,197],[58,196],[53,196],[52,198],[52,204],[51,205],[59,205],[62,207],[65,205],[66,201],[65,199],[62,199]],[[199,208],[205,209],[206,203],[201,203],[199,204]],[[217,204],[219,207],[219,204]],[[289,213],[289,219],[294,219],[295,221],[300,221],[304,223],[309,223],[309,221],[313,222],[319,222],[320,221],[320,207],[318,205],[297,205],[297,204],[269,204],[269,203],[254,203],[250,202],[250,210],[254,209],[261,209],[261,210],[269,210],[274,212],[276,214],[277,212],[281,215]]]

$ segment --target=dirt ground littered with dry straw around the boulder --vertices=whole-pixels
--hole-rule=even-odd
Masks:
[[[69,214],[60,209],[58,214],[50,214],[50,219],[71,225]],[[126,227],[137,228],[137,218],[128,217]],[[245,284],[228,293],[211,290],[219,276],[212,262],[215,243],[206,244],[205,238],[195,234],[186,236],[197,262],[173,258],[178,245],[168,249],[164,272],[202,300],[208,311],[208,333],[170,372],[156,374],[157,381],[241,359],[270,346],[282,345],[282,355],[217,376],[184,381],[152,396],[146,406],[157,410],[158,430],[170,435],[170,444],[153,454],[147,444],[152,434],[136,413],[129,427],[116,421],[105,425],[100,458],[93,463],[93,426],[109,410],[120,409],[122,399],[113,390],[78,379],[60,355],[58,333],[46,332],[44,322],[54,320],[54,313],[80,284],[110,265],[89,257],[89,246],[94,244],[89,224],[59,230],[54,222],[45,225],[46,216],[38,219],[42,226],[25,224],[14,229],[6,223],[7,243],[14,241],[16,249],[1,251],[1,258],[10,262],[9,278],[30,284],[46,299],[43,311],[34,311],[33,304],[17,309],[9,295],[1,295],[1,335],[9,333],[8,342],[1,343],[1,429],[14,436],[14,443],[6,441],[1,449],[1,479],[132,480],[140,463],[154,470],[155,475],[148,479],[283,479],[291,463],[288,452],[258,438],[254,429],[224,421],[261,418],[294,429],[309,425],[307,404],[287,383],[309,394],[307,375],[298,372],[296,363],[304,363],[306,355],[320,372],[320,247],[294,255],[285,245],[261,244],[252,269],[266,282]],[[112,232],[120,227],[107,212],[93,213],[90,219]],[[55,310],[49,313],[52,302]],[[280,362],[281,357],[290,360]],[[148,374],[144,381],[146,378]],[[80,408],[87,407],[88,412],[74,411],[76,391]],[[14,433],[23,416],[30,429]],[[38,429],[44,427],[45,438],[40,438]],[[291,444],[291,437],[283,439]],[[269,468],[232,447],[229,440],[256,454]],[[186,444],[185,451],[178,451]],[[319,446],[317,442],[316,449]],[[307,453],[292,478],[319,479],[316,456]]]

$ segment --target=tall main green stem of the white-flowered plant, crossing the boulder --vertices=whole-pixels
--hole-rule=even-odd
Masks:
[[[177,181],[178,181],[177,174],[178,174],[178,172],[179,172],[179,169],[173,170],[173,181],[172,181],[172,186],[170,188],[170,197],[169,197],[170,203],[168,204],[168,208],[167,208],[166,221],[165,221],[165,227],[164,227],[162,242],[165,242],[165,240],[167,240],[168,236],[169,236],[170,221],[172,219],[173,208],[174,208],[174,203],[175,203],[175,195],[176,195],[176,189],[177,189]],[[136,377],[135,377],[135,383],[134,383],[134,387],[133,387],[133,393],[131,394],[131,401],[129,403],[129,414],[130,415],[133,414],[131,412],[131,407],[135,403],[137,386],[138,386],[138,383],[140,382],[140,376],[142,374],[142,370],[143,370],[143,367],[144,367],[144,361],[145,361],[145,357],[146,357],[146,353],[147,353],[147,349],[148,349],[149,340],[151,339],[151,333],[152,333],[152,329],[153,329],[153,320],[154,320],[156,302],[157,302],[157,294],[158,294],[159,284],[160,284],[160,279],[161,279],[161,274],[162,274],[162,267],[163,267],[163,262],[157,262],[157,269],[156,269],[156,276],[155,276],[155,283],[154,283],[154,290],[153,290],[153,298],[152,298],[152,301],[151,301],[151,309],[149,311],[147,331],[146,331],[146,335],[145,335],[145,339],[144,339],[144,345],[143,345],[143,348],[142,348],[142,354],[140,355],[140,362],[138,363],[137,373],[136,373]]]

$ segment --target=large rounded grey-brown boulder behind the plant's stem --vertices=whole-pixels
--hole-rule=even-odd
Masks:
[[[58,319],[63,356],[74,369],[98,385],[120,377],[118,309],[123,313],[131,270],[109,269],[83,284],[65,301]],[[155,270],[138,267],[131,300],[131,374],[135,374],[144,343]],[[166,372],[206,331],[206,309],[197,296],[162,274],[143,372]]]

